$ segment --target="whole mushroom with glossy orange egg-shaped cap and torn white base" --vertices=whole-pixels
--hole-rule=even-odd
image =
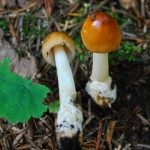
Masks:
[[[82,26],[81,38],[85,47],[93,52],[93,66],[87,93],[96,104],[106,107],[116,100],[116,86],[112,87],[109,76],[108,52],[114,51],[121,42],[119,25],[110,15],[95,12],[89,15]]]

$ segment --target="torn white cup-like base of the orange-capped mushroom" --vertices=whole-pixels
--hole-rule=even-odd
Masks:
[[[91,79],[86,85],[86,91],[96,104],[102,107],[111,107],[117,97],[116,86],[111,88],[111,84],[111,77],[108,78],[107,82],[98,82]]]

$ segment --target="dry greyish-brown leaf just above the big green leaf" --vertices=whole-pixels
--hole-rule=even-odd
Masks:
[[[0,61],[4,57],[11,58],[11,68],[18,75],[31,78],[37,72],[37,64],[33,56],[19,58],[17,52],[8,42],[0,41]]]

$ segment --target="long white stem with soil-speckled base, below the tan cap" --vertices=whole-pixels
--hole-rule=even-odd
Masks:
[[[53,48],[59,84],[60,108],[56,120],[56,135],[61,147],[62,139],[82,137],[82,111],[76,104],[76,89],[73,74],[63,46]],[[63,142],[62,142],[63,143]]]

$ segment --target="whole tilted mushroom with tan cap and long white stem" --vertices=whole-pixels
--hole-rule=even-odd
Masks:
[[[83,116],[79,105],[76,104],[77,92],[70,67],[70,61],[75,56],[74,42],[63,32],[50,33],[44,39],[42,55],[47,63],[56,65],[57,68],[60,99],[56,119],[58,145],[60,148],[68,148],[76,142],[75,147],[80,149]]]

